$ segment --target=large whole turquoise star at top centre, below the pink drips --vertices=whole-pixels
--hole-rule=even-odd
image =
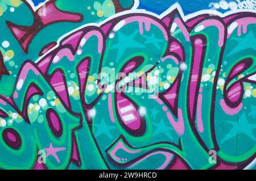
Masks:
[[[126,36],[121,32],[118,32],[118,43],[113,45],[110,49],[117,49],[117,62],[123,56],[123,53],[127,51],[128,48],[144,48],[143,44],[138,43],[134,40],[135,36],[138,35],[139,31],[135,31],[130,36]]]

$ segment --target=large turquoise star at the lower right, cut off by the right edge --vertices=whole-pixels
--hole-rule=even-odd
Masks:
[[[242,114],[239,121],[228,121],[228,123],[233,125],[233,128],[229,131],[228,134],[226,134],[221,143],[230,140],[230,138],[233,138],[241,133],[246,134],[252,140],[256,141],[256,138],[253,134],[253,129],[256,129],[256,124],[249,124],[245,113]]]

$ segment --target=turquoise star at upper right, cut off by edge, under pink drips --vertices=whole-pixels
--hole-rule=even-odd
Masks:
[[[256,38],[254,36],[253,31],[250,31],[249,33],[247,33],[245,37],[241,37],[241,38],[233,37],[232,39],[236,40],[239,44],[228,54],[228,56],[230,56],[230,54],[242,52],[242,50],[245,50],[248,48],[253,48],[254,50],[256,50]]]

